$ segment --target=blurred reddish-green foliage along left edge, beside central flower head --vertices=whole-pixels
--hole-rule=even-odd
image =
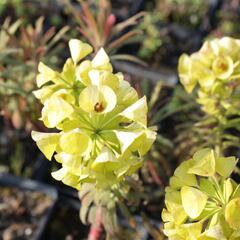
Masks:
[[[22,20],[11,22],[10,18],[1,25],[1,151],[5,152],[1,158],[6,165],[10,162],[8,171],[16,175],[24,175],[25,172],[29,176],[31,171],[28,169],[26,172],[27,166],[31,166],[29,161],[36,161],[36,156],[33,158],[31,154],[36,155],[37,150],[28,150],[30,131],[44,131],[38,121],[41,106],[32,94],[36,88],[37,66],[40,60],[58,66],[59,60],[52,54],[61,51],[59,42],[68,30],[68,26],[46,30],[43,17],[38,18],[34,25],[24,24]]]

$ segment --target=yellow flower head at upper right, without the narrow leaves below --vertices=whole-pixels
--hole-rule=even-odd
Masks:
[[[218,118],[239,115],[240,40],[206,41],[198,52],[180,57],[178,71],[188,92],[199,85],[198,102],[203,111]]]

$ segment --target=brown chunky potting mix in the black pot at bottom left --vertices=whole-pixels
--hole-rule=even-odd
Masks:
[[[43,193],[8,187],[0,187],[0,193],[0,239],[33,239],[52,199]]]

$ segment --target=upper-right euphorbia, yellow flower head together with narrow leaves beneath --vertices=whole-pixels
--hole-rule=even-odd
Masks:
[[[206,41],[198,52],[183,54],[179,60],[180,81],[187,92],[196,89],[203,111],[192,127],[200,148],[215,147],[224,152],[239,146],[239,137],[234,135],[240,121],[239,52],[240,40],[224,37]]]

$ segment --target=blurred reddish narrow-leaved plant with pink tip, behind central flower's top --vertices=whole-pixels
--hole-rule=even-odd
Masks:
[[[112,13],[111,2],[108,0],[83,1],[79,0],[79,5],[73,5],[70,0],[62,0],[66,7],[66,13],[71,16],[73,36],[89,42],[94,51],[101,47],[110,55],[112,60],[126,60],[137,63],[143,62],[130,54],[117,53],[123,46],[135,42],[136,36],[142,31],[133,28],[138,20],[144,15],[140,12],[121,22],[117,22],[116,16]],[[80,36],[79,36],[80,33]]]

